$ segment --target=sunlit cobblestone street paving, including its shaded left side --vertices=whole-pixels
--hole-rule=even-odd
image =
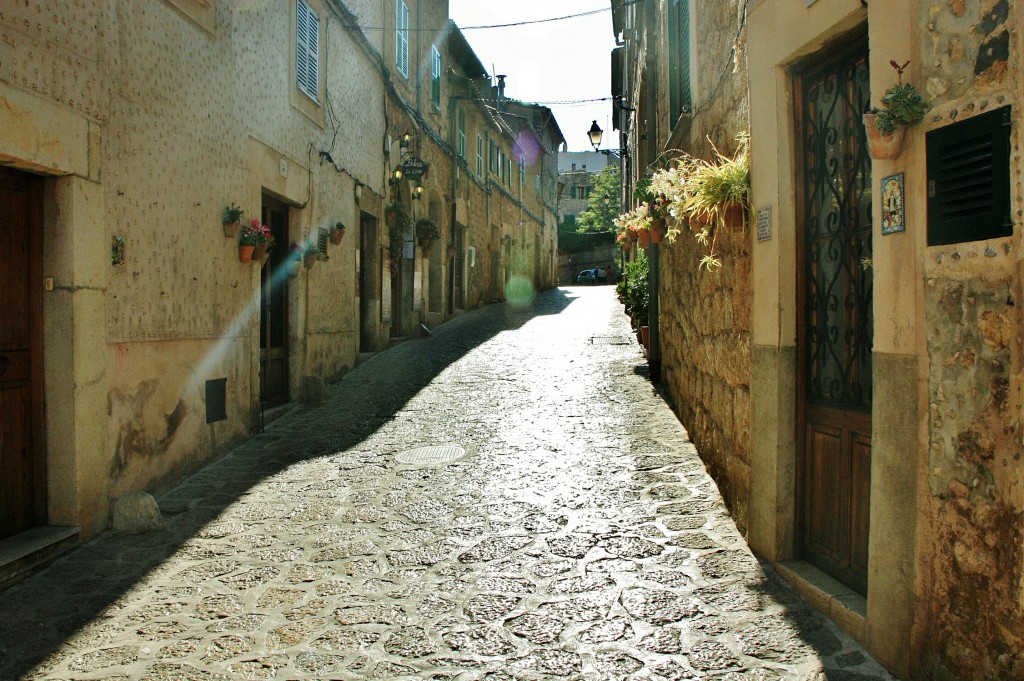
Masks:
[[[890,679],[766,578],[611,287],[404,343],[0,594],[3,679]]]

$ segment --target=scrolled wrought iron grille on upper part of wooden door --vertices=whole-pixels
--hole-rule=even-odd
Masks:
[[[831,67],[804,92],[808,398],[871,405],[871,164],[861,113],[865,60]]]

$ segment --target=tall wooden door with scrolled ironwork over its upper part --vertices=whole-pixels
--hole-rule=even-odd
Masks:
[[[799,78],[798,536],[803,557],[867,590],[871,475],[871,164],[867,40]]]

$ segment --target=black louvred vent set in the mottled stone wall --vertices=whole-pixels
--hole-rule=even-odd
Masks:
[[[928,245],[1010,237],[1010,107],[932,130]]]

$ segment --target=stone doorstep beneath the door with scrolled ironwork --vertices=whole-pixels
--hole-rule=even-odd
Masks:
[[[772,567],[801,596],[867,648],[867,599],[803,560],[783,560]]]

